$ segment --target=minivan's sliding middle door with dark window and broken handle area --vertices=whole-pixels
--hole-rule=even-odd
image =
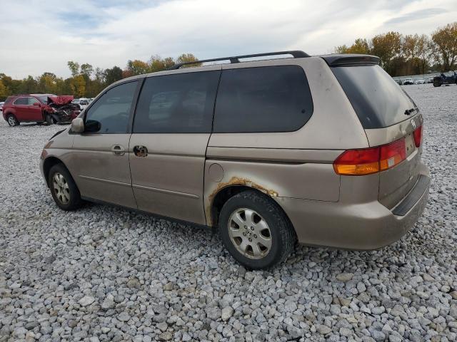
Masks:
[[[129,145],[138,208],[206,224],[204,165],[220,66],[146,78]]]

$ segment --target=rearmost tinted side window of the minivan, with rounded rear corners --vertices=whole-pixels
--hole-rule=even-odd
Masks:
[[[224,70],[214,132],[291,132],[301,128],[312,113],[308,81],[299,66]]]

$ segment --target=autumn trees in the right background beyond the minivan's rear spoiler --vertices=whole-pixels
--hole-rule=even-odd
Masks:
[[[368,53],[381,59],[391,76],[446,72],[457,68],[457,21],[437,28],[430,36],[399,32],[357,38],[351,46],[337,46],[336,53]]]

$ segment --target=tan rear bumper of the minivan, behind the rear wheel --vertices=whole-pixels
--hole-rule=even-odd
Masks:
[[[378,249],[400,239],[421,216],[430,187],[428,168],[423,165],[421,169],[416,185],[393,209],[378,201],[346,204],[281,197],[276,200],[291,219],[301,244]]]

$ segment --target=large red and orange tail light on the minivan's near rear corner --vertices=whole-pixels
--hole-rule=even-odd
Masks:
[[[406,159],[405,138],[388,145],[346,150],[333,162],[338,175],[371,175],[388,170]]]

